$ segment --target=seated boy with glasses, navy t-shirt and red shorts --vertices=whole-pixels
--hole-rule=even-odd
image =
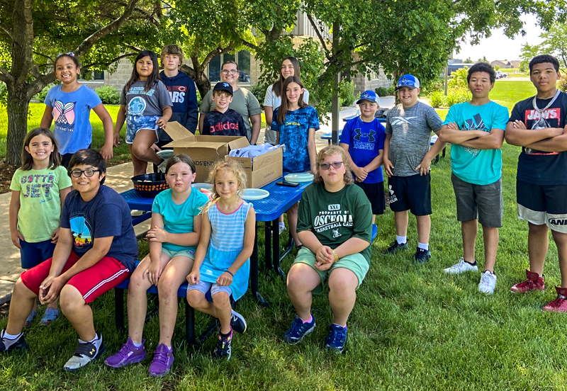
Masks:
[[[23,325],[35,297],[42,304],[60,299],[61,310],[79,334],[79,346],[64,370],[77,370],[104,351],[89,303],[116,287],[135,268],[137,240],[130,208],[103,186],[106,163],[94,149],[79,149],[69,162],[74,190],[65,199],[61,228],[51,259],[24,271],[13,289],[0,351],[23,350]]]

